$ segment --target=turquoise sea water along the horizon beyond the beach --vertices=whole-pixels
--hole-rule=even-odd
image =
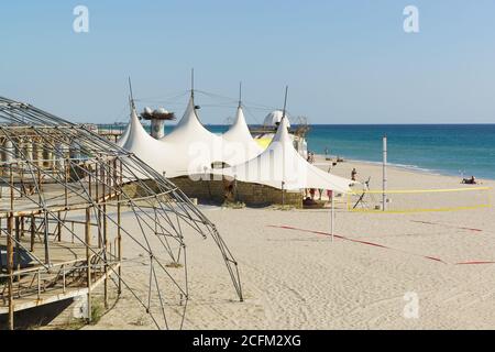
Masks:
[[[208,125],[221,133],[226,125]],[[167,127],[170,129],[170,127]],[[381,162],[382,138],[388,161],[418,170],[495,179],[495,124],[311,125],[311,152]]]

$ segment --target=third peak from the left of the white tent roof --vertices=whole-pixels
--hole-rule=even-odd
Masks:
[[[242,164],[260,155],[263,148],[254,141],[242,107],[238,108],[234,123],[222,134],[223,158],[230,166]]]

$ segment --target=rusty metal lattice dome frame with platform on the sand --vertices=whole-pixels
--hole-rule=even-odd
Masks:
[[[189,299],[186,228],[216,242],[242,300],[238,264],[215,224],[134,155],[84,125],[4,98],[0,152],[0,246],[7,254],[0,256],[0,312],[3,305],[11,328],[20,302],[30,307],[30,299],[86,289],[90,307],[98,283],[105,283],[106,304],[114,284],[157,328],[182,328]],[[139,249],[134,255],[123,254],[123,238]],[[76,255],[67,258],[61,248]],[[122,266],[138,252],[150,276],[136,284]]]

